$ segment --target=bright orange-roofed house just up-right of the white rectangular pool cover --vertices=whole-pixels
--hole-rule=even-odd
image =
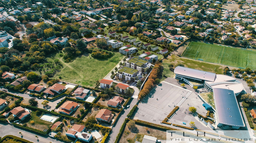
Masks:
[[[70,115],[80,105],[74,101],[66,101],[60,106],[59,113]]]

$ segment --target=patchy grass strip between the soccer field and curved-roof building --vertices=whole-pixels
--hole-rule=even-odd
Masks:
[[[173,63],[174,65],[178,63],[183,63],[185,67],[194,68],[198,70],[204,70],[207,72],[212,72],[216,74],[223,74],[223,69],[225,66],[217,65],[217,64],[211,64],[207,62],[202,61],[195,61],[187,58],[178,57],[175,54],[172,54],[167,59],[164,59],[162,61],[163,66],[163,73],[161,81],[165,80],[167,77],[175,77],[175,74],[173,73],[173,69],[169,69],[168,65],[170,63]]]

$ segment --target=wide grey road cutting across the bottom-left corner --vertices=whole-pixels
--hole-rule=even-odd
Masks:
[[[0,124],[0,137],[4,137],[6,135],[13,135],[20,138],[23,138],[25,140],[34,142],[34,143],[63,143],[61,141],[58,141],[56,139],[52,139],[48,136],[40,136],[39,134],[35,134],[33,132],[25,131],[23,129],[16,128],[9,124]],[[19,134],[19,132],[22,132],[23,137]],[[38,136],[38,140],[35,136]]]

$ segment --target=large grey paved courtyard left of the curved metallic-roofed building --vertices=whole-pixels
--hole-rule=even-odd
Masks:
[[[139,103],[134,119],[161,124],[160,122],[181,102],[183,97],[189,95],[180,104],[179,110],[170,118],[169,122],[179,125],[185,122],[185,126],[190,127],[189,123],[193,121],[199,129],[210,129],[196,120],[196,114],[191,114],[188,111],[188,108],[193,106],[197,108],[198,113],[205,115],[207,110],[202,106],[203,102],[197,97],[191,86],[186,84],[187,88],[184,89],[180,84],[174,78],[167,78],[164,82],[161,82],[159,86],[151,91],[149,96]]]

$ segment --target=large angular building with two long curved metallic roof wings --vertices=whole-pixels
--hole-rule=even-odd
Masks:
[[[177,66],[175,78],[183,80],[191,87],[198,86],[213,92],[215,103],[215,128],[239,129],[245,127],[236,96],[246,93],[241,82],[235,78],[202,70]]]

